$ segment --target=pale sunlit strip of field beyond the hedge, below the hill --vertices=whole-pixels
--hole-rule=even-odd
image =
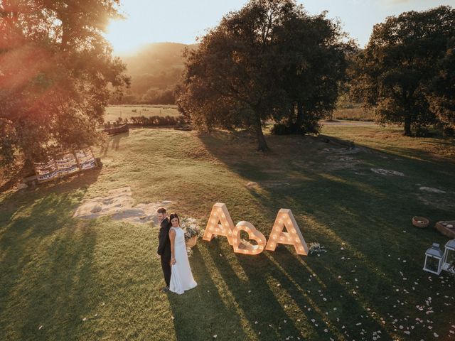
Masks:
[[[122,117],[180,116],[175,105],[117,105],[106,108],[105,121],[113,122]]]

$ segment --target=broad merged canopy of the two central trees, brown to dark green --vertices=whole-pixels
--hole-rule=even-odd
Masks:
[[[293,0],[252,0],[226,15],[187,53],[178,106],[196,126],[255,131],[260,151],[268,146],[266,121],[299,127],[336,102],[344,74],[340,27],[309,16]],[[294,108],[301,115],[294,121]]]

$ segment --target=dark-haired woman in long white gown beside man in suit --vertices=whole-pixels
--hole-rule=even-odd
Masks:
[[[184,291],[198,285],[191,274],[190,262],[186,253],[185,232],[180,228],[180,220],[176,213],[169,217],[171,228],[171,283],[169,290],[181,295]]]

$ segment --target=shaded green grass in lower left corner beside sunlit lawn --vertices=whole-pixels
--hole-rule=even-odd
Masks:
[[[92,276],[92,222],[71,217],[78,200],[75,193],[47,193],[30,207],[18,207],[1,230],[0,312],[9,315],[0,313],[0,320],[6,339],[75,340],[94,292],[100,294]]]

